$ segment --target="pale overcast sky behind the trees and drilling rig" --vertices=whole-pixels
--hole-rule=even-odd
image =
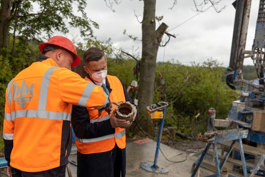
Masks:
[[[108,1],[108,0],[106,0]],[[198,0],[196,2],[199,2]],[[177,4],[172,10],[173,0],[157,0],[156,15],[164,16],[161,21],[169,26],[169,33],[177,35],[170,39],[166,47],[159,47],[157,61],[180,61],[184,65],[190,65],[195,61],[201,63],[208,58],[216,59],[223,66],[227,67],[230,60],[230,50],[234,28],[235,9],[232,6],[234,0],[222,0],[217,6],[219,9],[226,8],[216,13],[214,8],[197,14],[193,0],[177,0]],[[123,48],[128,53],[140,53],[141,41],[133,41],[128,36],[123,35],[126,29],[129,35],[141,39],[141,23],[137,21],[134,15],[140,15],[139,21],[143,18],[143,1],[122,0],[119,5],[113,4],[112,12],[106,6],[104,0],[87,0],[86,12],[90,19],[99,24],[99,29],[94,29],[97,39],[106,41],[111,38],[112,43],[117,48]],[[206,9],[208,6],[204,6]],[[255,27],[258,15],[259,1],[252,0],[250,22],[247,33],[246,50],[251,50]],[[189,21],[183,23],[184,21]],[[179,27],[179,24],[183,23]],[[158,27],[156,21],[156,28]],[[176,28],[175,28],[176,27]],[[173,29],[174,28],[174,29]],[[76,30],[71,30],[66,35],[71,38],[76,36]],[[163,37],[163,41],[165,35]],[[81,39],[80,39],[81,40]],[[251,58],[244,61],[244,65],[253,65]]]

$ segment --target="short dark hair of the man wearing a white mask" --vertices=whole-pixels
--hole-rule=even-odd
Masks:
[[[84,63],[86,65],[89,61],[99,61],[102,57],[107,60],[105,53],[100,48],[90,47],[84,53]]]

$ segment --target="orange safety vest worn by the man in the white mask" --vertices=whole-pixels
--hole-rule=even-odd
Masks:
[[[116,76],[107,75],[108,82],[112,91],[110,92],[109,98],[116,102],[125,101],[123,86],[120,80]],[[91,81],[87,77],[85,80]],[[116,108],[116,105],[114,109]],[[98,116],[98,112],[93,108],[87,108],[88,115],[90,118],[90,123],[100,122],[104,120],[108,120],[110,115],[106,111],[103,111],[101,116]],[[75,137],[75,144],[77,150],[82,154],[93,154],[100,153],[112,150],[115,146],[115,143],[118,145],[120,149],[124,149],[126,145],[126,136],[125,129],[123,128],[115,128],[114,134],[105,135],[97,138],[90,139],[81,139]]]

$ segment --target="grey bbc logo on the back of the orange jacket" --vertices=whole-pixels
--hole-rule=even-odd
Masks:
[[[33,93],[34,86],[32,84],[28,86],[25,84],[26,81],[22,81],[21,86],[17,86],[17,82],[14,82],[12,99],[15,103],[24,108],[24,106],[31,101],[35,93]]]

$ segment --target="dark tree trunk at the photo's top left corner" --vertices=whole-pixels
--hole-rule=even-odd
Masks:
[[[0,49],[2,49],[8,47],[11,0],[1,0],[0,8]]]

